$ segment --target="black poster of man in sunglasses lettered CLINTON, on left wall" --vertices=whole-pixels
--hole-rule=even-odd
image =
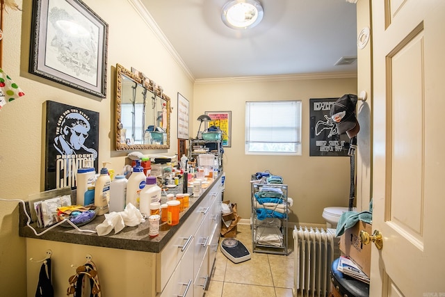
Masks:
[[[76,188],[78,168],[94,167],[99,151],[99,113],[46,102],[44,190]]]

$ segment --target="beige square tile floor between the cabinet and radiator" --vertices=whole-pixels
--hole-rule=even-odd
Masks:
[[[211,281],[204,296],[292,297],[292,228],[288,228],[288,255],[285,256],[252,252],[250,225],[238,224],[236,227],[236,239],[248,248],[251,259],[234,264],[218,248]]]

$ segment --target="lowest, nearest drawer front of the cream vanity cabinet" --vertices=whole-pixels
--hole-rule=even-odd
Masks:
[[[193,246],[193,239],[191,245]],[[193,266],[193,248],[188,246],[184,251],[184,257],[165,285],[161,297],[193,296],[193,275],[190,273],[191,266]]]

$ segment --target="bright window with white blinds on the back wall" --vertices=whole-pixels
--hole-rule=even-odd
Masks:
[[[245,102],[246,154],[301,154],[301,101]]]

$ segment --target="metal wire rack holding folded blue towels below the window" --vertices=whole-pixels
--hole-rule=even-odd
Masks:
[[[282,207],[280,211],[277,210],[271,210],[267,212],[266,218],[264,220],[259,220],[258,214],[257,214],[257,199],[255,198],[254,194],[261,191],[261,188],[269,187],[269,188],[278,188],[282,191],[282,196],[279,199]],[[287,223],[289,220],[289,211],[288,211],[288,203],[287,203],[287,185],[286,184],[264,184],[264,183],[255,183],[252,182],[251,186],[251,202],[252,202],[252,215],[251,215],[251,223],[252,223],[252,249],[253,252],[264,252],[268,254],[277,254],[277,255],[287,255],[287,240],[288,240],[288,232],[287,232]],[[264,208],[261,206],[261,208]],[[269,209],[270,210],[270,209]],[[273,220],[276,219],[276,220]],[[268,227],[269,223],[277,222],[277,220],[280,221],[281,225],[280,227],[277,227],[276,225],[270,225],[271,228],[277,228],[275,229],[268,229],[268,230],[274,230],[277,234],[281,235],[281,240],[277,244],[267,244],[267,243],[260,243],[259,237],[260,232],[264,232],[264,227]],[[275,234],[275,235],[277,235]]]

